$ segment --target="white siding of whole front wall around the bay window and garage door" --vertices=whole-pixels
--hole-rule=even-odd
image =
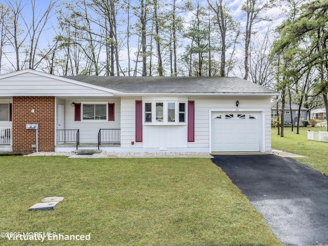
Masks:
[[[156,99],[156,100],[155,100]],[[271,148],[271,108],[269,97],[144,97],[142,104],[151,101],[195,101],[195,141],[187,142],[187,124],[185,125],[154,125],[144,124],[142,143],[131,145],[135,141],[135,100],[141,98],[122,98],[121,101],[121,147],[144,147],[144,148],[170,148],[170,147],[191,147],[199,149],[210,148],[210,119],[209,112],[212,109],[236,109],[236,101],[239,101],[239,109],[257,109],[265,115],[262,133],[265,133],[264,150]],[[154,116],[154,112],[153,117]],[[186,112],[187,113],[187,112]],[[145,114],[145,112],[144,112]],[[145,117],[145,115],[144,115]],[[186,115],[187,118],[187,115]],[[264,136],[260,136],[261,142]],[[174,140],[174,141],[173,141]],[[263,145],[263,144],[262,144]],[[262,150],[261,150],[262,151]]]

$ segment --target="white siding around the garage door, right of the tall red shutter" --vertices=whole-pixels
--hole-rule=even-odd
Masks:
[[[264,151],[271,149],[271,100],[270,97],[190,97],[189,100],[195,101],[195,142],[188,142],[188,147],[209,148],[210,144],[210,110],[231,110],[235,111],[236,101],[239,101],[238,109],[242,111],[256,109],[262,110],[265,114]],[[262,136],[263,137],[263,136]]]

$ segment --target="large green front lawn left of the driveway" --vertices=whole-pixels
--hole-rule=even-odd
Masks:
[[[281,245],[209,159],[3,156],[0,168],[0,232],[91,235],[43,245]],[[65,199],[54,211],[28,211],[48,196]]]

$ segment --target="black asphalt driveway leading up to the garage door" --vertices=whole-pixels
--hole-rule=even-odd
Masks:
[[[328,244],[328,177],[291,158],[214,155],[284,245]]]

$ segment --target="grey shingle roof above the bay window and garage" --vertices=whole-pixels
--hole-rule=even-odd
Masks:
[[[231,77],[64,77],[125,93],[249,93],[277,94],[252,82]]]

